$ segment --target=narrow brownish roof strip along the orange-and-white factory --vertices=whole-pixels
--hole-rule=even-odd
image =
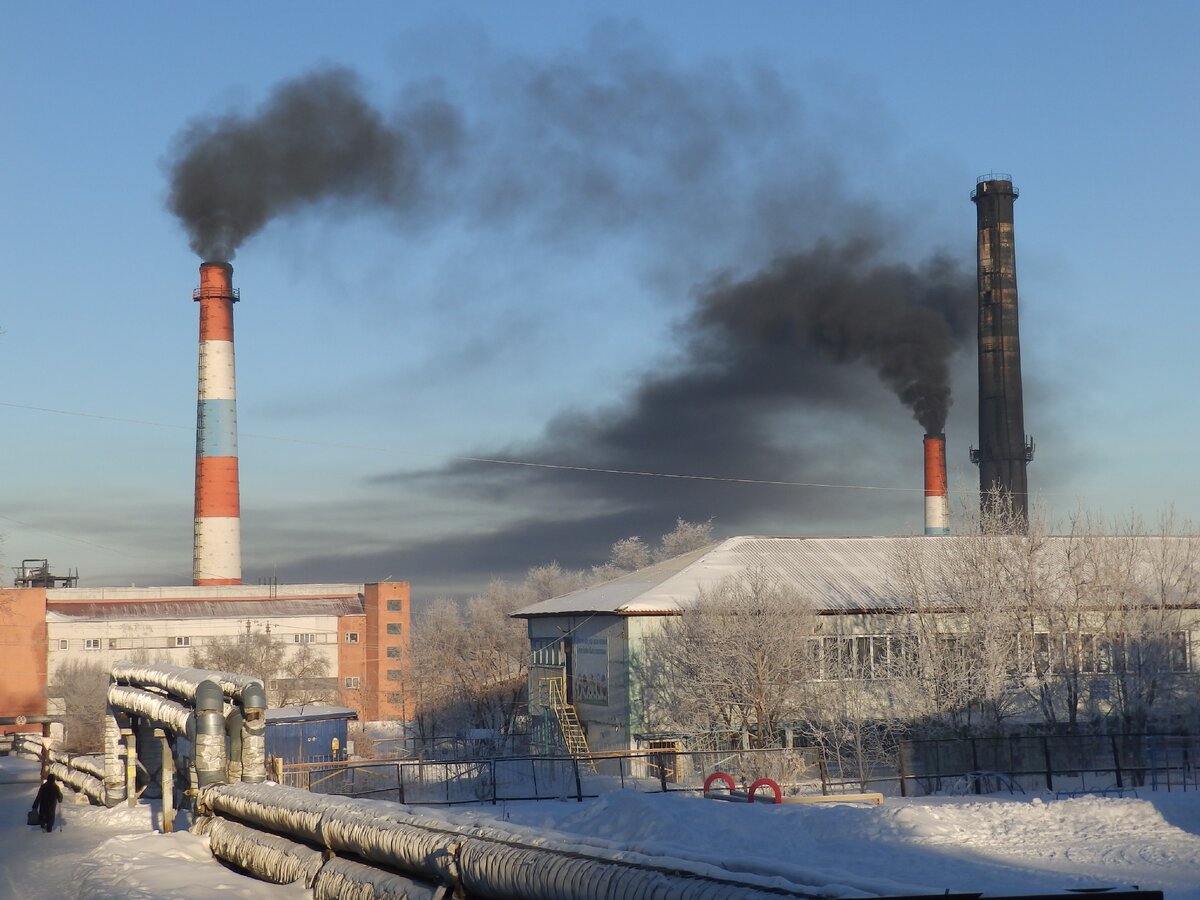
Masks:
[[[114,619],[288,618],[292,616],[362,616],[362,602],[350,598],[304,600],[149,600],[46,605],[47,622],[112,622]]]

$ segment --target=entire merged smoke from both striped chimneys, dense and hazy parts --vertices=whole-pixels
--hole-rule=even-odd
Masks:
[[[275,217],[340,204],[394,214],[406,234],[457,218],[487,240],[529,238],[546,265],[595,259],[610,239],[641,247],[634,277],[653,277],[683,318],[677,352],[613,407],[563,412],[539,439],[473,456],[845,481],[866,464],[896,470],[878,425],[896,400],[926,432],[943,430],[973,278],[914,252],[920,224],[896,218],[907,181],[886,176],[881,136],[857,131],[877,110],[829,114],[821,104],[838,97],[802,98],[769,70],[680,66],[625,29],[600,29],[548,60],[485,54],[446,67],[402,90],[391,115],[337,70],[282,85],[251,115],[192,125],[172,163],[170,208],[193,248],[228,259]],[[844,166],[870,166],[888,190],[868,186],[864,199]],[[864,437],[883,448],[877,456]],[[830,445],[850,461],[832,458]],[[482,554],[480,571],[497,564],[484,545],[528,565],[558,556],[556,535],[568,530],[568,556],[588,541],[602,556],[625,534],[668,530],[677,515],[750,528],[816,518],[797,512],[808,499],[794,493],[724,482],[472,463],[382,480],[546,514],[546,528],[517,512],[508,530],[463,538]],[[838,497],[846,515],[869,516],[871,504],[884,500]],[[464,547],[445,546],[450,568],[470,568],[456,557]]]

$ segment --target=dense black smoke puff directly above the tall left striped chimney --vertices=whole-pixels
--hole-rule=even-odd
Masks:
[[[391,120],[336,68],[281,85],[257,115],[193,124],[178,140],[168,206],[208,260],[233,259],[276,216],[323,200],[413,211],[425,173],[452,158],[457,113],[437,98]]]

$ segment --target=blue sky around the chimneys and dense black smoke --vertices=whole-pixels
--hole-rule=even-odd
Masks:
[[[1080,504],[1200,518],[1194,5],[350,10],[6,11],[7,565],[187,582],[199,259],[166,206],[173,154],[191,124],[252,116],[277,85],[335,66],[383,116],[444,100],[462,157],[444,180],[430,170],[416,214],[325,202],[239,248],[246,581],[462,594],[550,559],[599,562],[676,515],[714,516],[719,534],[918,532],[922,430],[868,367],[817,354],[794,404],[739,392],[734,427],[733,400],[685,390],[707,377],[696,311],[720,275],[743,283],[862,233],[880,260],[943,253],[970,280],[968,193],[991,170],[1021,191],[1031,490],[1052,518]],[[644,94],[623,82],[605,119],[569,91],[553,109],[530,100],[546,78],[589,97],[631,71]],[[580,186],[595,173],[616,186],[608,206]],[[973,365],[966,341],[947,425],[965,488]],[[667,404],[646,401],[635,422],[654,396]]]

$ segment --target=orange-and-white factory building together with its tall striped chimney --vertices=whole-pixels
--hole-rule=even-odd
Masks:
[[[280,684],[266,685],[269,695],[283,702],[319,695],[362,721],[407,719],[407,582],[241,583],[233,266],[202,264],[192,299],[199,304],[193,583],[84,588],[73,570],[58,576],[46,559],[24,560],[13,588],[0,590],[0,712],[59,712],[48,692],[72,660],[106,670],[121,660],[187,666],[205,644],[269,635],[283,672]],[[298,652],[325,674],[284,683]]]

